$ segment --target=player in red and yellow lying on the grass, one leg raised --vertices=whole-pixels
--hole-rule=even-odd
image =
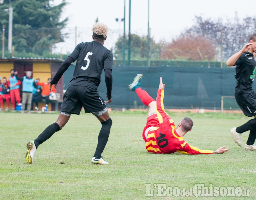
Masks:
[[[148,152],[163,154],[174,152],[184,154],[221,154],[229,150],[225,149],[226,146],[220,147],[216,151],[200,150],[190,146],[183,139],[183,136],[188,131],[191,131],[193,121],[185,117],[181,120],[178,127],[175,127],[174,121],[164,111],[165,84],[162,82],[162,77],[160,77],[156,101],[145,90],[141,89],[141,78],[142,74],[138,74],[129,85],[129,88],[135,91],[142,103],[149,107],[147,123],[142,133]]]

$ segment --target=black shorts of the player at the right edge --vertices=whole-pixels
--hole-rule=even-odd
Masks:
[[[256,115],[256,95],[255,92],[248,94],[236,94],[236,102],[243,111],[243,113],[248,117],[253,117]]]

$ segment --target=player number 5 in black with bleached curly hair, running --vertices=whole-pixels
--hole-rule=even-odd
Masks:
[[[93,26],[93,41],[80,43],[66,60],[60,65],[56,75],[50,82],[49,89],[56,85],[72,62],[77,60],[73,78],[64,94],[60,114],[57,121],[48,126],[34,141],[27,143],[26,161],[32,163],[36,149],[49,139],[55,132],[61,130],[68,122],[71,114],[79,115],[82,106],[85,113],[94,114],[101,122],[102,127],[98,136],[98,144],[91,160],[92,164],[108,164],[101,158],[110,133],[112,120],[109,116],[106,103],[112,101],[112,65],[113,54],[103,46],[107,39],[106,25],[96,23]],[[97,88],[100,84],[102,70],[105,72],[108,101],[103,101]]]

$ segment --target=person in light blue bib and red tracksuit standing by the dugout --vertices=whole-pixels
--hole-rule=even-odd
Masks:
[[[12,110],[15,110],[15,101],[20,104],[20,84],[21,82],[14,76],[14,69],[11,69],[11,76],[8,80],[8,85],[10,87],[10,96],[12,103]]]

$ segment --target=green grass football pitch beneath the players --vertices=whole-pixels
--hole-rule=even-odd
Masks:
[[[72,115],[61,131],[40,145],[34,163],[29,165],[24,157],[26,142],[54,123],[58,113],[1,112],[0,199],[170,199],[157,197],[154,183],[186,190],[196,183],[239,186],[250,189],[250,199],[256,198],[256,152],[237,146],[229,133],[230,128],[250,118],[221,113],[169,115],[176,125],[185,116],[193,119],[194,127],[184,137],[190,145],[209,150],[226,145],[230,151],[214,155],[150,154],[141,136],[146,113],[113,111],[109,141],[102,154],[110,164],[92,165],[101,124],[92,114],[81,113]],[[248,132],[242,135],[243,144],[247,138]],[[151,183],[154,197],[145,197],[146,183]]]

